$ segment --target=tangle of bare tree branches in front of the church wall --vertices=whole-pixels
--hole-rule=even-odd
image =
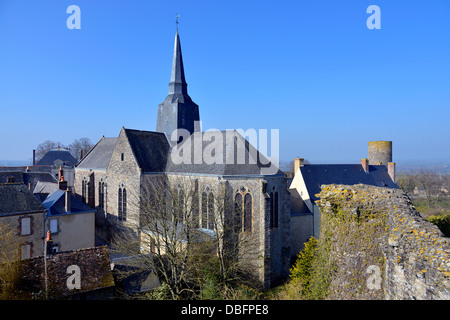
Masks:
[[[115,237],[113,250],[152,270],[172,299],[197,297],[211,272],[220,285],[236,283],[243,275],[251,279],[258,237],[242,232],[226,183],[216,187],[205,199],[197,179],[151,176],[132,201],[139,208],[134,232]]]

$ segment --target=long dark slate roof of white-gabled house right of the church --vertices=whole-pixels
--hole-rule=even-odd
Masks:
[[[361,164],[316,164],[300,167],[311,201],[324,184],[367,184],[377,187],[398,188],[392,181],[386,166],[369,166],[366,173]]]

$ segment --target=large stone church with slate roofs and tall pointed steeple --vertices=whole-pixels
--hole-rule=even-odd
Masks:
[[[233,205],[224,214],[239,237],[251,240],[260,284],[267,288],[286,278],[292,253],[285,174],[237,130],[201,130],[199,106],[187,91],[178,30],[169,92],[158,107],[156,130],[148,129],[122,127],[117,137],[102,137],[75,167],[74,192],[97,209],[97,236],[108,241],[121,228],[138,230],[143,190],[154,179],[189,181],[198,195],[193,204],[198,229],[212,229],[218,203],[211,199],[225,189]]]

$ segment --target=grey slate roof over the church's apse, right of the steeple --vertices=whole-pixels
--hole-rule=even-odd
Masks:
[[[213,141],[215,141],[216,137],[221,137],[222,141],[217,145],[219,147],[216,147],[213,151]],[[201,141],[198,144],[199,148],[196,146],[196,141]],[[178,164],[169,155],[166,172],[213,175],[264,175],[265,170],[268,170],[271,166],[268,159],[236,130],[195,132],[178,145],[178,150],[183,148],[189,150],[187,148],[189,144],[191,155],[187,159],[188,161]],[[221,159],[222,163],[219,161],[214,161],[215,163],[212,164],[205,162],[206,155],[211,154],[213,157],[216,157],[215,152],[221,152],[220,155],[217,155],[217,159],[219,161]],[[238,162],[238,155],[240,154],[244,155],[244,161],[241,161],[241,163]],[[205,157],[202,157],[203,155]],[[250,158],[251,155],[255,155],[255,158]],[[199,164],[196,164],[196,158],[201,159]],[[278,167],[275,167],[270,174],[283,173]]]

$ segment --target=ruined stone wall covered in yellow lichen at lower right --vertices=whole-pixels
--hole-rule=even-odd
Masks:
[[[327,299],[449,299],[450,245],[399,189],[322,186]]]

